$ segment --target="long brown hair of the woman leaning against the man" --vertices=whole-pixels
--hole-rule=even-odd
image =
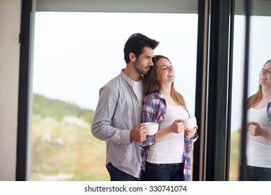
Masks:
[[[166,56],[162,56],[162,55],[153,56],[153,66],[150,68],[150,71],[148,72],[148,74],[144,75],[144,79],[145,79],[144,94],[145,95],[148,95],[153,92],[158,92],[161,89],[161,84],[160,84],[160,81],[158,81],[157,79],[157,73],[156,73],[157,72],[156,63],[160,59],[167,59],[169,61],[169,59]],[[182,105],[183,107],[185,107],[185,109],[187,109],[186,104],[185,104],[185,98],[183,98],[183,95],[180,95],[180,93],[176,91],[176,89],[174,88],[174,82],[172,82],[171,84],[171,96],[173,98],[173,101],[176,102],[176,104]]]

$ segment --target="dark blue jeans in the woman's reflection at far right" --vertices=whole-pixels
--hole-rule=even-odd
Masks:
[[[271,181],[271,169],[247,166],[247,181]]]

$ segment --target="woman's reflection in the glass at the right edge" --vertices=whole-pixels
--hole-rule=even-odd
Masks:
[[[271,60],[258,80],[258,92],[248,98],[247,180],[271,180]]]

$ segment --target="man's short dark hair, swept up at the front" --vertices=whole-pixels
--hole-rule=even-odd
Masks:
[[[126,63],[130,62],[129,54],[130,52],[134,53],[136,57],[143,53],[144,47],[150,47],[151,49],[155,49],[159,45],[154,39],[150,39],[147,36],[142,35],[141,33],[134,33],[130,38],[128,38],[127,42],[124,46],[124,60]]]

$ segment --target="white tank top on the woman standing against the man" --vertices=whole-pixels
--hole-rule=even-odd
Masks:
[[[173,107],[167,104],[167,111],[164,120],[160,124],[160,129],[171,125],[176,119],[185,119],[188,116],[183,107]],[[181,134],[168,134],[161,141],[150,146],[147,162],[154,164],[183,163],[184,146],[184,132]]]

